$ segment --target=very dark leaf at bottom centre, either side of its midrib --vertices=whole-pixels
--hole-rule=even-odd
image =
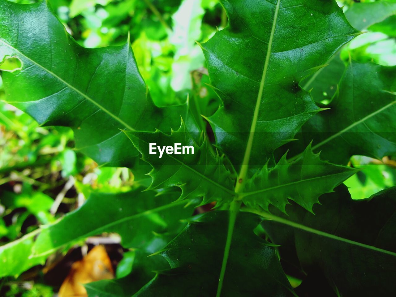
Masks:
[[[162,251],[170,269],[134,296],[215,296],[227,234],[228,211],[211,211],[187,227]],[[294,296],[274,248],[254,234],[260,218],[239,213],[222,296]],[[158,257],[158,256],[156,256]],[[243,272],[243,273],[241,273]]]

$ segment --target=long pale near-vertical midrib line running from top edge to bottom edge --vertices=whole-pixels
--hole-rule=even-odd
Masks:
[[[267,49],[267,54],[266,54],[265,62],[264,62],[263,76],[261,77],[261,81],[260,81],[259,93],[257,94],[256,106],[255,106],[254,113],[253,113],[253,119],[252,119],[252,123],[251,123],[251,127],[250,127],[249,138],[247,139],[247,145],[246,145],[244,158],[242,161],[242,166],[241,166],[238,178],[236,180],[235,192],[238,195],[242,192],[242,190],[244,188],[244,184],[246,182],[246,173],[247,173],[247,169],[249,166],[250,153],[251,153],[251,148],[253,146],[254,132],[256,130],[257,119],[259,117],[261,98],[263,97],[265,78],[267,76],[268,63],[269,63],[270,55],[271,55],[272,40],[274,39],[276,20],[278,19],[279,7],[280,7],[280,0],[278,0],[278,2],[276,3],[276,7],[275,7],[274,20],[272,22],[271,34],[270,34],[270,38],[268,40],[268,49]],[[240,197],[237,196],[236,198],[234,198],[234,200],[231,202],[231,205],[230,205],[230,218],[228,221],[227,239],[226,239],[226,244],[224,247],[223,262],[221,263],[219,285],[217,286],[216,297],[220,297],[220,295],[221,295],[221,289],[223,287],[225,270],[227,268],[228,255],[230,254],[232,233],[234,232],[236,216],[238,215],[241,204],[242,204],[242,201],[240,201]]]

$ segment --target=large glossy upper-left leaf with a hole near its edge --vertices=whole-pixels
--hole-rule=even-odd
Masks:
[[[120,129],[177,128],[187,104],[158,108],[139,74],[131,46],[86,49],[65,31],[46,1],[0,0],[0,61],[6,100],[41,125],[69,126],[76,148],[99,164],[132,167],[137,150]],[[126,149],[128,148],[128,149]]]

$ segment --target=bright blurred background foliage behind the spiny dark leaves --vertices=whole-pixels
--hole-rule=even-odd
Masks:
[[[33,0],[13,0],[29,4]],[[48,0],[66,30],[87,48],[124,44],[130,36],[139,70],[159,106],[187,100],[199,115],[210,116],[219,99],[209,84],[199,43],[206,42],[228,20],[217,0]],[[318,74],[327,89],[310,86],[315,101],[337,95],[337,82],[348,59],[396,65],[396,10],[388,1],[338,0],[358,36],[335,55]],[[361,8],[361,3],[375,2]],[[0,70],[10,65],[0,65]],[[340,73],[341,72],[341,73]],[[332,82],[329,84],[328,82]],[[114,82],[116,83],[116,82]],[[40,127],[27,114],[4,101],[0,77],[0,246],[80,207],[89,190],[119,192],[136,187],[127,168],[99,168],[74,150],[69,128]],[[396,159],[395,159],[396,160]],[[355,156],[351,165],[361,171],[348,179],[354,199],[395,184],[396,161]],[[128,252],[130,253],[130,252]],[[126,253],[117,275],[124,275]],[[133,253],[132,253],[133,254]],[[133,257],[133,255],[132,255]],[[30,278],[0,281],[1,296],[52,296],[42,273]],[[29,279],[29,280],[26,280]],[[4,286],[7,286],[7,293]],[[3,287],[3,289],[1,289]]]

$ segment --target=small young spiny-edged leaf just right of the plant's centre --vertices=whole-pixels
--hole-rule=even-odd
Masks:
[[[252,208],[268,210],[272,204],[285,212],[290,199],[312,212],[312,206],[319,203],[320,195],[332,192],[356,171],[320,160],[319,154],[314,154],[308,145],[293,162],[287,162],[284,154],[273,168],[269,169],[266,164],[253,175],[240,196]]]

